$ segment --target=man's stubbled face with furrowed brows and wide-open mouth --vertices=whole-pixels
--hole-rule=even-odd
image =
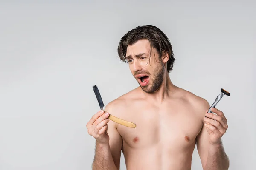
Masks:
[[[157,50],[153,47],[150,50],[148,40],[143,39],[128,45],[126,59],[131,73],[143,91],[152,93],[160,88],[165,67]]]

